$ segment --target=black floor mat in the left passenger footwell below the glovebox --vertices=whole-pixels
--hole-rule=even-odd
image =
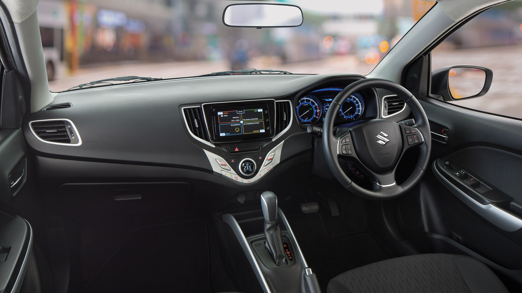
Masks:
[[[140,227],[94,274],[85,292],[211,292],[207,227]]]

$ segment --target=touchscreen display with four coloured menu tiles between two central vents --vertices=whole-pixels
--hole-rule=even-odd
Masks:
[[[272,103],[273,105],[273,103]],[[205,109],[206,108],[206,109]],[[204,106],[209,114],[209,132],[214,141],[272,137],[274,106],[269,103]],[[207,119],[209,117],[207,116]]]

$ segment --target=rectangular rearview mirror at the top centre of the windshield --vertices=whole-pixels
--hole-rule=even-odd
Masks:
[[[303,23],[303,11],[288,4],[231,4],[223,11],[223,24],[242,28],[287,28]]]

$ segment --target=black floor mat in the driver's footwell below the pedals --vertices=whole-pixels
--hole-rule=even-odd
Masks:
[[[318,213],[293,214],[287,218],[323,292],[330,279],[340,273],[389,258],[368,234],[332,240]]]

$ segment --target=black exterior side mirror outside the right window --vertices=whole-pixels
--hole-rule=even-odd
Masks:
[[[444,101],[471,99],[485,95],[493,81],[493,70],[474,65],[454,65],[431,72],[431,93]]]

